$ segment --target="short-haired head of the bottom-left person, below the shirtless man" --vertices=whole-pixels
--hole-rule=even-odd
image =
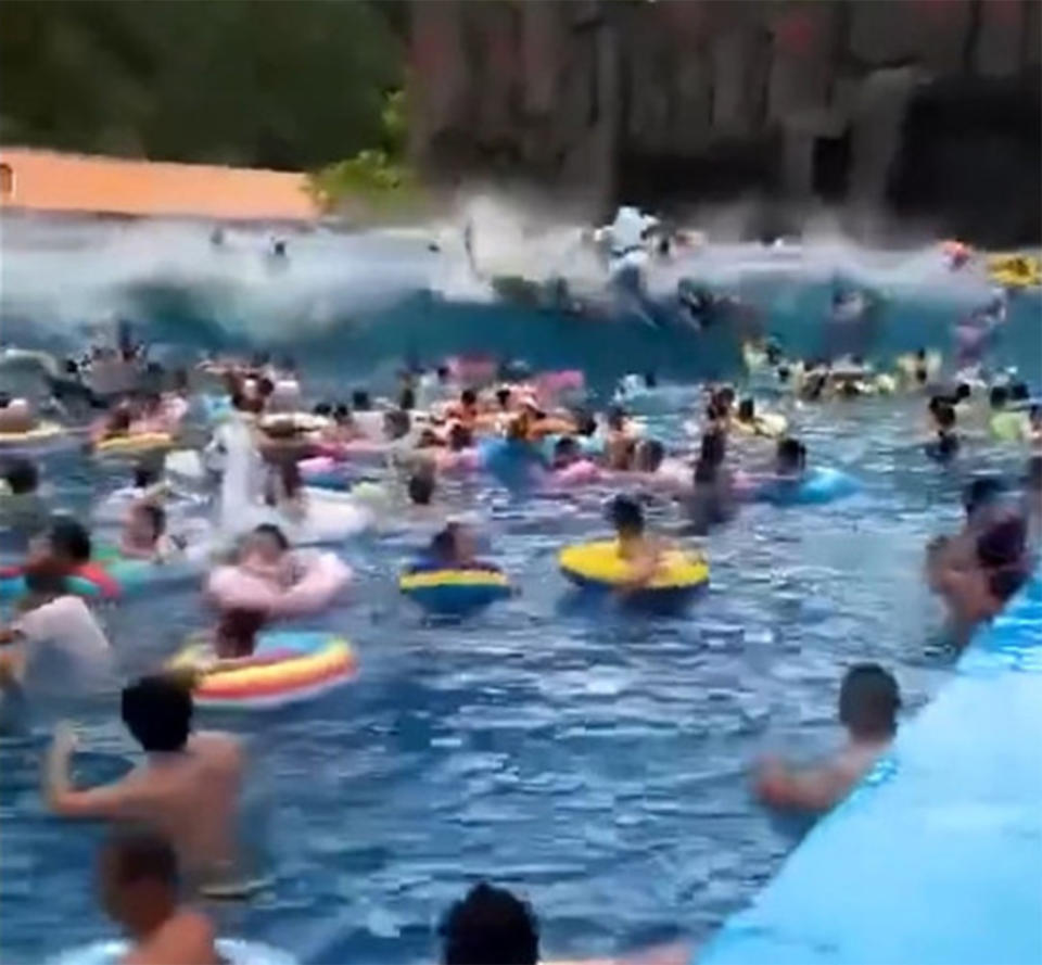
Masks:
[[[130,935],[149,935],[177,909],[177,853],[154,830],[117,828],[99,854],[98,884],[105,913]]]

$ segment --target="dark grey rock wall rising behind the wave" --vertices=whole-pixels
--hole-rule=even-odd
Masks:
[[[1040,230],[1040,10],[1039,0],[414,0],[414,154],[436,178],[524,179],[601,207],[900,201],[938,227],[992,236],[980,241],[1032,240],[1022,236]],[[957,140],[953,97],[968,105],[964,137],[1004,155],[994,169],[1019,182],[1033,217],[989,226],[979,203],[965,216],[955,170],[965,157],[950,152],[948,172],[922,148],[930,130],[915,129],[937,124]],[[919,211],[908,186],[926,180],[938,190]]]

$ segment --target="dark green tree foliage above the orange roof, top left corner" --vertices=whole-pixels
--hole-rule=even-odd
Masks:
[[[396,151],[401,18],[361,0],[3,0],[0,137],[289,169]]]

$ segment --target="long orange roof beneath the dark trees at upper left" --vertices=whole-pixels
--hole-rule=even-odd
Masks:
[[[310,220],[305,177],[0,148],[0,205],[30,211]]]

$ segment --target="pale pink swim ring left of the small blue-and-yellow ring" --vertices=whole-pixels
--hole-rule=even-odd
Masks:
[[[301,617],[325,610],[351,582],[351,568],[331,553],[297,554],[303,575],[288,589],[241,567],[218,567],[206,581],[206,592],[224,609],[263,610],[269,617]]]

